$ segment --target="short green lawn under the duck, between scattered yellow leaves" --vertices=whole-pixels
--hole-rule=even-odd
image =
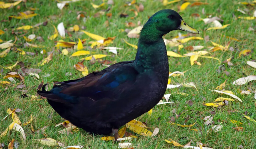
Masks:
[[[6,1],[5,3],[13,2],[16,1]],[[3,148],[8,148],[7,146],[12,139],[15,139],[14,144],[16,147],[18,143],[18,148],[59,147],[58,145],[43,145],[34,140],[43,138],[55,139],[63,143],[64,146],[83,145],[84,148],[117,148],[117,142],[103,141],[101,140],[103,136],[91,135],[82,129],[78,129],[77,132],[73,132],[69,135],[58,133],[58,131],[64,129],[64,127],[55,127],[55,125],[65,120],[52,109],[47,100],[37,95],[36,89],[42,81],[49,83],[49,88],[51,88],[56,81],[61,82],[83,77],[83,73],[78,71],[74,65],[81,62],[81,58],[90,55],[71,56],[74,52],[78,51],[76,45],[79,39],[83,41],[83,50],[90,51],[91,54],[107,55],[100,59],[83,61],[82,64],[88,68],[89,73],[92,71],[100,71],[106,68],[107,65],[117,62],[134,60],[136,49],[126,44],[123,39],[136,45],[138,38],[129,38],[125,30],[127,31],[139,25],[144,25],[148,17],[162,9],[173,9],[179,12],[184,21],[200,32],[199,35],[193,36],[203,38],[202,40],[189,40],[184,43],[177,42],[179,45],[183,45],[183,48],[179,46],[180,49],[178,49],[178,46],[173,47],[166,45],[167,51],[173,51],[183,55],[193,52],[191,46],[200,45],[204,47],[200,50],[194,49],[194,51],[207,51],[205,55],[200,56],[212,56],[219,61],[217,59],[199,56],[196,61],[193,60],[190,63],[189,56],[169,56],[169,72],[186,71],[184,73],[186,80],[184,80],[182,75],[170,76],[169,84],[182,84],[184,81],[185,83],[193,82],[196,88],[191,86],[186,87],[186,85],[183,84],[177,88],[167,89],[166,94],[172,94],[170,95],[169,101],[173,101],[174,103],[156,105],[151,114],[145,113],[137,118],[137,120],[145,122],[147,127],[149,127],[147,129],[151,132],[153,132],[154,128],[159,128],[159,133],[154,137],[150,137],[136,134],[127,129],[127,132],[132,133],[137,136],[137,138],[124,142],[132,143],[134,148],[182,148],[167,143],[165,139],[172,139],[181,145],[185,145],[191,140],[190,145],[197,147],[199,147],[197,143],[200,142],[203,144],[203,147],[211,148],[256,148],[256,122],[253,121],[256,119],[256,97],[254,97],[256,81],[254,80],[242,85],[232,84],[232,82],[241,77],[256,75],[256,68],[247,64],[247,61],[254,62],[256,60],[255,17],[251,20],[240,18],[252,17],[253,13],[255,15],[256,3],[248,1],[249,4],[246,5],[239,3],[243,1],[236,0],[208,0],[202,1],[207,2],[207,4],[196,6],[190,4],[185,10],[181,11],[180,7],[183,3],[186,3],[186,1],[163,5],[161,0],[137,0],[135,4],[129,1],[113,1],[114,4],[112,4],[111,1],[106,0],[105,4],[99,8],[94,8],[95,6],[93,7],[91,3],[99,6],[103,3],[100,0],[79,1],[66,4],[62,10],[57,7],[58,2],[28,0],[20,2],[10,8],[1,8],[0,2],[0,29],[4,32],[0,33],[0,39],[3,40],[2,43],[9,40],[12,40],[11,43],[13,43],[16,40],[7,55],[4,54],[1,56],[0,54],[0,132],[3,133],[13,122],[11,115],[3,120],[3,118],[8,115],[8,108],[19,109],[16,111],[16,114],[22,123],[28,122],[30,116],[33,116],[31,123],[28,125],[21,124],[26,135],[26,140],[22,138],[19,132],[12,130],[0,137],[0,143],[2,143],[2,145],[4,144]],[[194,3],[194,1],[188,2]],[[143,5],[144,10],[138,12],[136,16],[135,14],[138,11],[139,5],[141,5],[141,10]],[[134,9],[136,12],[130,9]],[[237,9],[242,10],[244,14]],[[27,19],[9,17],[18,16],[18,13],[26,12],[27,10],[33,11],[34,14],[37,15]],[[77,19],[79,14],[80,19]],[[120,17],[120,15],[125,16],[124,14],[129,16]],[[207,30],[213,27],[212,25],[214,24],[206,24],[202,19],[212,17],[220,18],[219,22],[222,25],[230,25],[223,29]],[[56,35],[57,37],[55,39],[50,40],[49,38],[55,34],[54,26],[57,28],[58,24],[61,22],[63,22],[66,29],[66,38],[61,38],[61,36],[57,34],[58,36]],[[35,27],[38,23],[43,24]],[[26,30],[26,28],[17,30],[18,27],[25,25],[34,27],[28,30]],[[108,50],[101,49],[100,47],[102,46],[91,48],[91,43],[96,40],[89,37],[84,32],[72,31],[72,28],[68,31],[68,29],[74,25],[78,25],[79,30],[84,30],[104,38],[115,37],[107,46],[123,49],[117,50],[117,54],[114,54],[108,52]],[[179,33],[182,35],[187,34],[187,32],[177,30],[166,34],[164,38],[170,41],[174,38],[192,37],[191,34],[188,34],[186,37],[178,36]],[[31,41],[29,41],[29,39],[26,41],[24,36],[28,38],[31,34],[36,36],[35,39],[31,38]],[[227,38],[227,36],[232,38]],[[56,47],[57,42],[55,41],[61,39],[66,42],[76,42],[75,47],[73,44],[69,47]],[[111,40],[112,39],[110,39],[110,41]],[[226,46],[226,48],[219,48],[219,50],[215,51],[211,49],[214,47],[211,41],[220,44],[217,45],[217,48],[221,47],[221,45],[223,47]],[[26,42],[44,47],[29,46]],[[21,51],[17,51],[17,49]],[[64,53],[63,51],[63,54],[63,49],[67,49],[68,53]],[[0,48],[0,53],[4,50],[6,50],[6,48]],[[248,51],[239,56],[240,52],[243,50]],[[44,65],[38,64],[51,53],[52,59],[48,63]],[[18,63],[13,68],[4,68],[14,65],[16,62]],[[83,68],[83,70],[84,69],[85,68]],[[24,81],[20,78],[13,78],[14,82],[13,79],[10,80],[4,77],[10,72],[17,72],[24,77]],[[84,71],[84,73],[86,73],[86,71]],[[39,78],[35,74],[38,74]],[[10,84],[4,84],[7,83],[5,81],[8,81]],[[231,91],[232,94],[238,96],[242,102],[231,96],[211,91],[225,81],[225,86],[217,90]],[[248,91],[250,94],[241,94],[242,90]],[[186,95],[174,93],[185,93]],[[231,98],[234,99],[234,101],[229,101],[228,103],[224,101],[224,105],[218,107],[205,105],[206,103],[214,102],[218,97]],[[163,101],[166,101],[165,98],[163,98]],[[243,114],[250,117],[252,120],[247,119]],[[207,125],[204,120],[206,116],[213,117],[211,123]],[[232,123],[230,119],[242,122],[243,124]],[[180,127],[176,124],[171,125],[170,122],[181,125],[196,124],[191,127]],[[48,127],[44,132],[34,132],[31,130],[31,125],[34,130],[39,130],[45,126]],[[214,125],[221,125],[221,130],[216,132],[215,130],[211,130]],[[235,129],[238,126],[242,127],[243,130]]]

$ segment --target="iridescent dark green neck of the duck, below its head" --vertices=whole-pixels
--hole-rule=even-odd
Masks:
[[[140,33],[135,67],[140,72],[147,70],[169,70],[168,58],[162,36],[165,32],[145,24]]]

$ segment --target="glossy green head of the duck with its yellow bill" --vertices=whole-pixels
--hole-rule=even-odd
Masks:
[[[164,34],[173,30],[183,30],[193,34],[199,34],[198,30],[189,26],[182,17],[172,9],[163,9],[156,12],[148,19],[146,24],[152,24],[158,31]]]

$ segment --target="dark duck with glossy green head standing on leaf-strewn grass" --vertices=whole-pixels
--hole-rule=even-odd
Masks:
[[[152,109],[163,97],[169,65],[163,35],[173,30],[193,34],[174,10],[163,9],[143,26],[135,60],[115,63],[82,78],[56,82],[50,91],[37,90],[64,119],[79,128],[99,135],[112,134]]]

